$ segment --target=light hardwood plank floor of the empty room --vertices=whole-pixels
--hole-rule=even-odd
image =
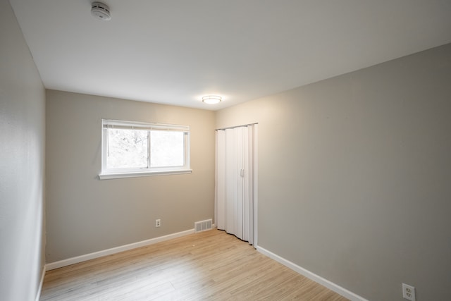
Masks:
[[[212,230],[47,271],[41,300],[347,300]]]

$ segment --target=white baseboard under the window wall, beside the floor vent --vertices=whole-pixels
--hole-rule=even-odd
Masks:
[[[214,225],[212,225],[212,226],[214,226]],[[79,262],[85,262],[85,261],[87,261],[89,259],[99,258],[99,257],[102,257],[102,256],[115,254],[115,253],[118,253],[118,252],[132,250],[132,249],[135,249],[137,247],[144,247],[145,245],[153,245],[156,242],[162,242],[162,241],[170,240],[170,239],[173,239],[173,238],[180,238],[181,236],[185,236],[185,235],[192,234],[192,233],[194,233],[194,229],[190,229],[190,230],[182,231],[182,232],[178,232],[178,233],[173,233],[173,234],[169,234],[169,235],[160,236],[159,238],[151,238],[149,240],[142,240],[140,242],[133,242],[133,243],[130,243],[128,245],[121,245],[119,247],[112,247],[111,249],[98,251],[98,252],[93,252],[93,253],[89,253],[89,254],[85,254],[85,255],[80,255],[80,256],[72,257],[72,258],[68,258],[68,259],[63,259],[63,260],[60,260],[58,262],[51,262],[49,264],[46,264],[46,270],[49,271],[49,270],[61,268],[63,266],[68,266],[70,264],[78,264]]]

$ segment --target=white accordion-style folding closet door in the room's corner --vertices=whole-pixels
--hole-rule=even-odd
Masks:
[[[255,125],[256,126],[256,125]],[[254,242],[254,126],[216,130],[218,229]]]

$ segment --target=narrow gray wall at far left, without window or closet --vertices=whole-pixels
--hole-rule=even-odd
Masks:
[[[0,300],[35,300],[44,268],[45,91],[0,1]]]

